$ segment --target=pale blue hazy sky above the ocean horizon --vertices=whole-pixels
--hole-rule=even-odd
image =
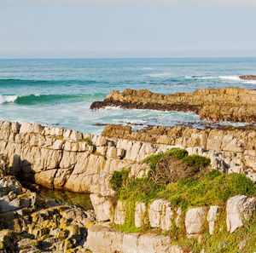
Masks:
[[[256,0],[0,0],[0,59],[214,56],[256,56]]]

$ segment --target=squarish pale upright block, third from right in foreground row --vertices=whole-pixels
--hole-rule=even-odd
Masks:
[[[207,208],[191,208],[186,213],[185,226],[189,235],[201,233],[201,228],[207,220]]]

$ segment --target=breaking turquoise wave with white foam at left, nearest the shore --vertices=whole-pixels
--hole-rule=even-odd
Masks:
[[[41,103],[73,103],[102,100],[105,96],[106,94],[102,93],[88,95],[0,95],[0,104],[36,105]]]

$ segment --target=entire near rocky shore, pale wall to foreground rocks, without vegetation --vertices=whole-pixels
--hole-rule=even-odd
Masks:
[[[154,126],[133,131],[129,126],[107,125],[102,135],[91,135],[1,121],[0,251],[185,253],[184,245],[165,235],[166,231],[175,232],[172,225],[177,220],[185,227],[183,237],[192,236],[199,244],[213,233],[214,224],[222,224],[227,236],[240,234],[248,222],[254,221],[254,196],[233,196],[219,209],[212,205],[179,210],[162,198],[140,202],[134,205],[131,220],[140,229],[147,218],[150,229],[119,231],[116,226],[125,226],[127,206],[131,204],[116,199],[110,179],[114,171],[124,168],[129,170],[129,177],[143,178],[150,170],[145,158],[179,147],[189,155],[210,158],[212,169],[226,175],[236,172],[256,181],[255,140],[253,126],[203,130]],[[90,193],[94,210],[42,200],[17,179],[30,187]],[[205,229],[204,234],[201,229]],[[208,252],[203,245],[200,247]]]

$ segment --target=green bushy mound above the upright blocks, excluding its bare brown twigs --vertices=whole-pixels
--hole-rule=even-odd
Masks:
[[[177,178],[176,181],[169,182],[166,174],[163,174],[154,180],[153,174],[157,171],[158,163],[166,161],[170,156],[182,160],[187,167],[184,170],[196,169],[196,178]],[[110,183],[120,200],[148,204],[156,198],[164,198],[174,207],[187,209],[189,206],[223,205],[228,198],[238,194],[247,196],[256,194],[256,186],[245,175],[222,174],[218,170],[198,172],[200,168],[210,164],[210,159],[198,155],[189,156],[188,152],[181,149],[175,148],[150,156],[144,162],[149,164],[151,170],[143,178],[129,178],[129,170],[125,169],[113,172]],[[161,177],[164,177],[164,180]]]

